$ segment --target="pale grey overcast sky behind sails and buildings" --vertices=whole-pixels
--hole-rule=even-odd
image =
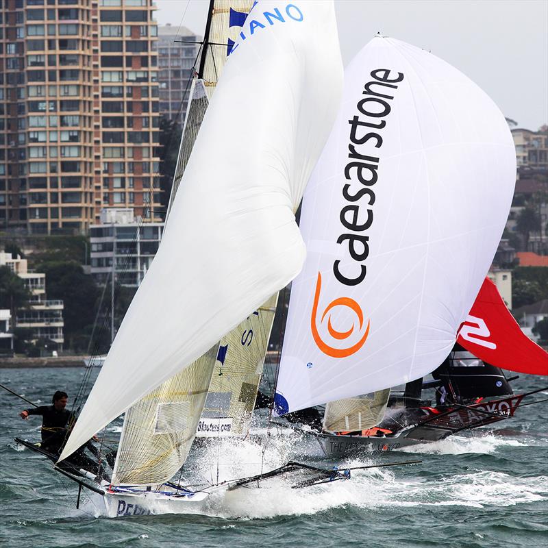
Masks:
[[[300,0],[307,1],[307,0]],[[203,35],[209,0],[156,0],[160,25]],[[343,62],[377,31],[471,77],[519,127],[548,123],[547,0],[335,0]]]

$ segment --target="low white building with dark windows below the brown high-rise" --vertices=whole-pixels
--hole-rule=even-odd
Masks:
[[[105,284],[115,280],[138,287],[158,251],[164,223],[138,223],[131,209],[103,210],[101,224],[90,227],[91,273]]]

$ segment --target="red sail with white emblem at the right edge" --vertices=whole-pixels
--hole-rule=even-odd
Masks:
[[[502,369],[548,375],[548,353],[523,334],[488,278],[460,326],[457,342],[480,360]]]

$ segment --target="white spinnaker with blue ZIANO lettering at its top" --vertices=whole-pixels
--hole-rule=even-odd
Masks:
[[[293,210],[343,71],[326,1],[255,5],[223,71],[164,237],[62,452],[69,456],[299,273]]]

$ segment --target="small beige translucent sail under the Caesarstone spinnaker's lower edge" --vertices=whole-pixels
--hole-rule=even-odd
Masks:
[[[328,432],[355,432],[379,424],[386,411],[390,388],[353,398],[329,401],[325,406],[323,429]]]

